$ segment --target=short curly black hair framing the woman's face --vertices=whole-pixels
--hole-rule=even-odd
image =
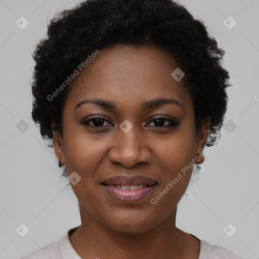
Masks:
[[[48,96],[96,50],[118,44],[155,46],[180,65],[193,99],[196,129],[210,117],[206,146],[214,145],[231,85],[229,72],[221,65],[225,51],[208,35],[202,20],[171,0],[88,0],[55,15],[33,53],[32,118],[41,137],[53,140],[53,122],[54,130],[63,133],[70,84],[54,100]]]

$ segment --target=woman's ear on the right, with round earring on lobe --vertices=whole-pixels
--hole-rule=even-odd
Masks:
[[[195,148],[195,155],[196,157],[199,156],[198,161],[196,164],[201,164],[204,162],[204,156],[200,155],[207,143],[208,134],[209,134],[209,126],[210,126],[210,117],[202,121],[201,127],[199,127],[197,135],[196,135],[196,148]]]

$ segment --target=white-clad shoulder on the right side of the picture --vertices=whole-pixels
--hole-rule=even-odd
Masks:
[[[199,259],[243,259],[230,250],[217,245],[210,245],[204,240],[200,240]]]

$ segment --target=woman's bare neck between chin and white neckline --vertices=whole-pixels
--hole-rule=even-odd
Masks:
[[[177,208],[170,217],[154,228],[142,232],[131,232],[130,226],[125,226],[123,232],[111,229],[93,219],[79,204],[81,226],[69,236],[70,243],[83,259],[87,258],[184,258],[187,243],[190,246],[193,237],[176,227]],[[188,236],[188,238],[187,238]],[[197,259],[196,257],[187,257]],[[159,249],[158,249],[159,248]],[[185,257],[186,258],[186,257]]]

